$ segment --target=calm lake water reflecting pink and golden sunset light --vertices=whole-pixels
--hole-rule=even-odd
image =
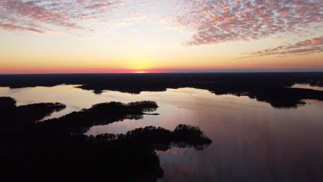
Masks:
[[[156,101],[158,116],[90,128],[87,134],[125,133],[148,125],[173,130],[179,123],[199,126],[213,143],[203,151],[172,148],[157,152],[159,181],[323,181],[323,102],[277,109],[248,97],[215,95],[193,88],[166,92],[94,94],[59,85],[52,88],[0,88],[18,105],[61,102],[66,110],[48,118],[108,101]]]

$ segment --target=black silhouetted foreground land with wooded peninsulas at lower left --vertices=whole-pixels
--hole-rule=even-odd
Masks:
[[[212,141],[199,128],[178,125],[174,131],[153,126],[126,134],[86,136],[92,125],[138,119],[156,110],[157,103],[101,103],[59,119],[37,122],[64,108],[61,103],[17,107],[0,97],[0,160],[3,181],[156,181],[164,175],[155,150],[194,147],[203,150]],[[29,113],[29,114],[21,114]]]

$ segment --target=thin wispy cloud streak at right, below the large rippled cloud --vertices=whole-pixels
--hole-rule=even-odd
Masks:
[[[256,52],[247,52],[245,53],[246,55],[244,57],[238,57],[237,59],[262,57],[268,55],[277,55],[279,57],[283,57],[289,54],[312,54],[317,52],[323,52],[323,37],[300,41],[293,45],[280,45],[276,48],[269,48]]]

